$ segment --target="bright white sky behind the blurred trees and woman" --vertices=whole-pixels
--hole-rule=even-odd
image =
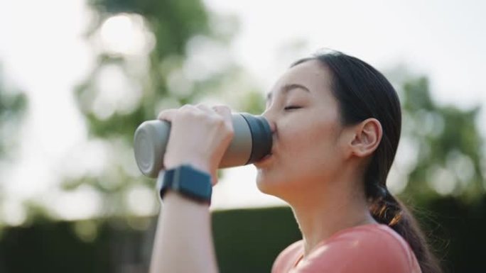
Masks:
[[[292,60],[319,48],[333,48],[378,69],[403,63],[426,74],[434,98],[441,103],[486,105],[485,1],[206,3],[212,11],[239,18],[232,57],[264,90]],[[0,218],[7,223],[23,221],[21,202],[27,199],[36,199],[63,218],[89,217],[101,206],[89,189],[70,195],[60,195],[56,189],[61,161],[90,162],[77,172],[102,166],[82,155],[68,157],[74,148],[90,155],[100,150],[97,143],[85,143],[87,130],[72,97],[72,87],[95,64],[92,49],[81,37],[90,16],[82,0],[0,0],[0,64],[11,84],[26,91],[31,106],[16,162],[0,174],[5,196]],[[109,33],[107,37],[119,38]],[[281,204],[258,192],[254,176],[252,166],[229,169],[215,189],[213,207]],[[130,198],[137,196],[144,194],[140,191]]]

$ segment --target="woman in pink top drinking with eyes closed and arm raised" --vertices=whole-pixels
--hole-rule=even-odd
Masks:
[[[340,52],[300,60],[276,82],[263,116],[271,155],[257,185],[292,208],[303,240],[272,272],[441,272],[416,221],[387,190],[401,130],[399,99],[384,76]],[[217,182],[232,139],[229,108],[162,111],[173,128],[166,169],[189,164]],[[168,190],[151,272],[217,272],[207,204]]]

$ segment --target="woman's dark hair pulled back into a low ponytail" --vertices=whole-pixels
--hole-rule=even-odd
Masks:
[[[342,52],[317,53],[292,66],[309,60],[318,60],[330,70],[331,89],[344,125],[367,118],[376,118],[382,124],[382,140],[365,172],[365,194],[373,218],[389,225],[409,243],[423,273],[442,272],[414,216],[387,189],[401,132],[400,101],[394,87],[377,69]]]

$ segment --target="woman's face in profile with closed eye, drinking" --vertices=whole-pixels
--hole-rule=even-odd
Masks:
[[[286,200],[338,175],[343,127],[330,72],[317,60],[291,67],[269,93],[263,113],[274,129],[272,155],[255,163],[257,185]]]

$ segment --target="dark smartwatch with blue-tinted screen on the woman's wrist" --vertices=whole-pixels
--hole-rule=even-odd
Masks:
[[[163,172],[160,190],[161,199],[163,199],[168,189],[200,203],[211,203],[212,184],[210,174],[195,169],[191,165],[180,165],[173,169],[166,169]]]

